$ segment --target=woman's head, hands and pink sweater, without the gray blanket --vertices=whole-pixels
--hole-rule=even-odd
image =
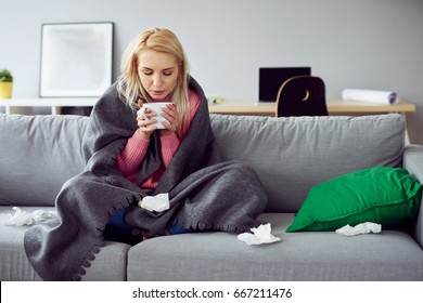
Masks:
[[[152,193],[190,129],[201,101],[198,94],[188,87],[188,62],[183,49],[167,29],[149,29],[134,39],[124,54],[121,70],[118,90],[133,109],[148,102],[171,102],[163,115],[168,123],[164,123],[164,130],[158,130],[163,163],[141,184],[144,192]],[[139,128],[117,158],[118,168],[131,181],[134,181],[145,157],[150,136],[157,129],[151,127],[156,115],[148,113],[148,119],[137,115]]]

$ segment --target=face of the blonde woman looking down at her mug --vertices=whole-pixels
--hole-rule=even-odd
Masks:
[[[177,84],[179,68],[174,55],[153,50],[139,55],[138,75],[153,100],[165,100]]]

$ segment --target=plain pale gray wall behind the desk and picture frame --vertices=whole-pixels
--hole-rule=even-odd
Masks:
[[[258,67],[309,65],[329,100],[360,88],[416,104],[408,128],[423,144],[420,0],[0,0],[0,68],[13,71],[15,97],[38,95],[42,23],[114,22],[114,79],[129,40],[158,26],[178,35],[208,94],[256,100]]]

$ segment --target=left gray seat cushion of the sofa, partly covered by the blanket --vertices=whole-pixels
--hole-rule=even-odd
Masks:
[[[21,207],[22,210],[54,210],[52,207]],[[14,213],[11,207],[0,207],[0,214]],[[30,266],[24,249],[24,234],[29,226],[0,224],[0,280],[36,281],[41,278]],[[82,280],[87,281],[123,281],[126,280],[127,253],[130,246],[107,241],[95,254],[91,266]]]

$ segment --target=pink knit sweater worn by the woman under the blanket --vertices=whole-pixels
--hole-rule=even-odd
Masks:
[[[200,97],[194,91],[189,91],[189,102],[190,102],[190,115],[185,123],[182,124],[182,135],[184,136],[190,129],[192,119],[194,118],[196,110],[200,106]],[[182,139],[183,139],[182,136]],[[153,173],[150,177],[144,180],[141,184],[141,188],[146,192],[153,192],[162,175],[164,174],[166,168],[169,166],[174,155],[178,150],[179,145],[181,144],[182,139],[178,137],[176,133],[172,133],[168,136],[159,136],[161,146],[162,146],[162,159],[163,166]],[[116,159],[116,164],[119,170],[124,173],[128,180],[134,182],[139,171],[141,162],[144,160],[150,140],[143,139],[138,130],[128,140],[127,145],[121,150],[119,156]]]

